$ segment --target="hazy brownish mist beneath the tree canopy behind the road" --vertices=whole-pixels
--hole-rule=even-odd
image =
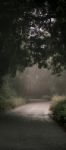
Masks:
[[[51,71],[34,65],[24,72],[17,71],[14,88],[19,96],[27,98],[66,95],[66,72],[61,76],[52,75]]]

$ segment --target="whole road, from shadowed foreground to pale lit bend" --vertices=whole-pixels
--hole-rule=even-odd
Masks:
[[[49,118],[49,102],[0,115],[0,150],[66,150],[66,133]]]

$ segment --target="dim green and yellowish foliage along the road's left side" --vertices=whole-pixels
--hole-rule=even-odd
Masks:
[[[9,75],[4,77],[0,91],[0,111],[11,109],[24,104],[26,100],[19,97],[13,87],[13,78]]]

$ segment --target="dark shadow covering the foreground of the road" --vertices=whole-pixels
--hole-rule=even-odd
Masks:
[[[0,114],[1,150],[66,150],[66,133],[53,121]]]

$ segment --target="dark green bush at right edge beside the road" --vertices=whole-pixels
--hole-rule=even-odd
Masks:
[[[52,110],[53,118],[66,128],[66,100],[58,102]]]

